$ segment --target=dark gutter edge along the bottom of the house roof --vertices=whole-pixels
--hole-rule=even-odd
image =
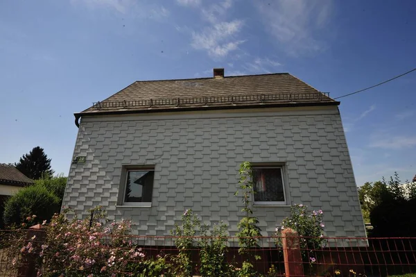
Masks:
[[[146,110],[103,110],[99,112],[76,112],[75,125],[79,128],[80,117],[94,117],[99,115],[132,115],[132,114],[146,114],[153,112],[183,112],[196,110],[238,110],[248,108],[288,108],[288,107],[312,107],[312,106],[339,106],[339,101],[327,102],[303,102],[303,103],[257,103],[250,105],[236,105],[236,106],[200,106],[200,107],[181,107],[181,108],[150,108]]]

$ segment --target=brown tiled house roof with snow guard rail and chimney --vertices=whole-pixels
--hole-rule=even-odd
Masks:
[[[94,103],[84,115],[209,110],[260,106],[339,105],[288,73],[218,76],[182,80],[137,81],[109,98]],[[254,106],[254,107],[253,107]]]

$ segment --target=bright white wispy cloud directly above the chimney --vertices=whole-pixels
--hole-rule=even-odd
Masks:
[[[234,51],[244,40],[235,40],[234,35],[241,31],[243,22],[221,22],[214,26],[206,27],[200,33],[193,33],[191,46],[194,49],[205,49],[210,56],[224,57],[230,51]]]

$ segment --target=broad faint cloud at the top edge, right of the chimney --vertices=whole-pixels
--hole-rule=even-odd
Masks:
[[[331,1],[255,1],[254,5],[266,30],[287,53],[300,56],[324,48],[317,33],[331,18]]]

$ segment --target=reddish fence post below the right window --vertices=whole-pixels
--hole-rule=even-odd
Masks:
[[[281,232],[283,244],[284,271],[286,277],[304,276],[302,254],[300,253],[299,236],[291,228]]]

